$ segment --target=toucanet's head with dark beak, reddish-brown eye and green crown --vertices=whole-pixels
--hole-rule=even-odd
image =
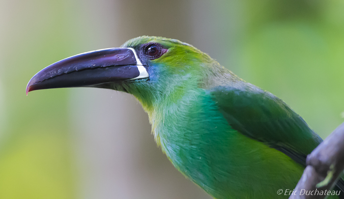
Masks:
[[[175,39],[142,36],[121,48],[91,51],[53,63],[34,75],[26,92],[61,87],[98,87],[133,94],[149,109],[199,86],[216,61]]]

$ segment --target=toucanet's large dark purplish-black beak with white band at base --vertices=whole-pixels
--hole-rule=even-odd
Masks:
[[[26,93],[62,87],[102,87],[108,83],[147,78],[132,48],[109,48],[68,57],[34,75]]]

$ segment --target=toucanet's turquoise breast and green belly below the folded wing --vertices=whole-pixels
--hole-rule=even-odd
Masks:
[[[277,191],[292,190],[304,168],[231,128],[207,91],[192,94],[151,119],[174,167],[216,199],[287,198]]]

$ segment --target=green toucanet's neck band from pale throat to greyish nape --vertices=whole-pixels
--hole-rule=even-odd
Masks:
[[[207,90],[238,81],[242,80],[214,62],[211,67],[204,67],[199,74],[190,74],[190,77],[184,79],[175,77],[155,83],[143,82],[142,85],[137,84],[127,90],[142,104],[149,116],[155,141],[161,145],[157,129],[161,123],[167,122],[167,115],[181,117],[186,114],[190,105],[198,103],[197,99],[201,95],[206,95]],[[172,120],[168,122],[175,124],[174,119]]]

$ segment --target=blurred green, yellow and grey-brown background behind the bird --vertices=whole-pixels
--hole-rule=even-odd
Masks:
[[[210,199],[156,147],[134,97],[25,94],[45,66],[141,35],[193,44],[326,138],[344,121],[343,10],[341,0],[0,0],[0,199]]]

